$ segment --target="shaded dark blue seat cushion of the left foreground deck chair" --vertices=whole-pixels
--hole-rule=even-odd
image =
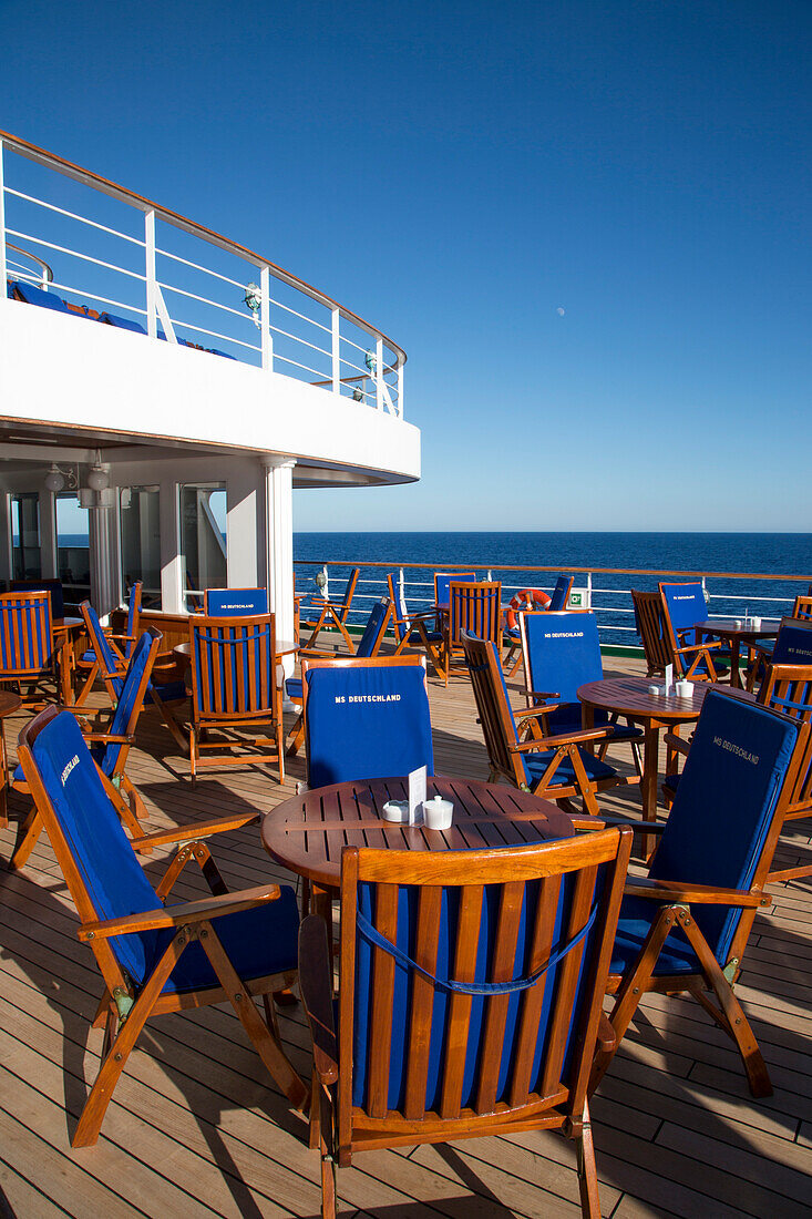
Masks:
[[[244,981],[296,968],[299,907],[290,885],[282,885],[282,896],[278,901],[267,902],[252,911],[224,914],[213,925],[232,964]],[[174,929],[160,933],[152,964],[173,934]],[[219,980],[200,944],[190,944],[172,970],[163,993],[185,993],[206,990],[210,986],[219,986]]]

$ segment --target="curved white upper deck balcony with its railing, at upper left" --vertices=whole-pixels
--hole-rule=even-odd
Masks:
[[[0,272],[68,306],[1,294],[0,436],[271,453],[300,486],[419,477],[396,343],[262,255],[4,133]]]

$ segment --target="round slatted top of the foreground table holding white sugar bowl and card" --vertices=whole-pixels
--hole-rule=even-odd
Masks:
[[[345,846],[469,851],[525,846],[572,837],[574,833],[572,822],[556,805],[517,787],[434,775],[427,789],[429,797],[454,801],[450,829],[385,822],[380,816],[384,803],[406,800],[408,779],[373,779],[317,787],[285,800],[266,813],[262,844],[278,863],[317,885],[335,889]]]

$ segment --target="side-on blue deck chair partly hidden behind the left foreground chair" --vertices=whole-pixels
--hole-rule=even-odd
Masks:
[[[130,746],[135,742],[135,728],[144,707],[146,689],[161,644],[160,631],[150,628],[144,631],[127,664],[127,674],[122,683],[121,697],[110,714],[105,731],[99,731],[87,720],[76,717],[82,735],[90,745],[90,755],[105,780],[109,795],[122,823],[133,837],[143,837],[139,822],[146,818],[146,808],[138,790],[133,786],[124,767]],[[74,713],[74,708],[71,708]],[[22,767],[17,766],[13,774],[15,791],[28,792],[28,784]],[[28,814],[17,823],[17,841],[9,862],[10,868],[22,868],[33,851],[43,830],[43,822],[32,806]]]

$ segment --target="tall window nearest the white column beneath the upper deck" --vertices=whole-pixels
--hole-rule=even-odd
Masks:
[[[180,551],[187,610],[202,610],[206,589],[228,585],[224,483],[180,488]]]

